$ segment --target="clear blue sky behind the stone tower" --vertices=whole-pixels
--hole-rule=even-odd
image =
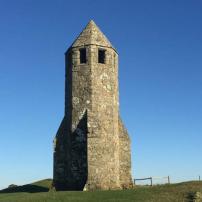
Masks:
[[[0,188],[52,177],[64,52],[94,19],[119,52],[133,176],[202,175],[202,1],[0,0]]]

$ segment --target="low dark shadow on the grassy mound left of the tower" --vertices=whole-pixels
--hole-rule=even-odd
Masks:
[[[46,187],[41,187],[38,185],[23,185],[23,186],[16,186],[16,187],[10,187],[3,190],[0,190],[1,193],[16,193],[16,192],[28,192],[28,193],[38,193],[38,192],[48,192],[49,189]]]

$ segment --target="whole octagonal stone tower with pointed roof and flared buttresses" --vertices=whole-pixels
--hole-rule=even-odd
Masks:
[[[54,139],[56,190],[132,186],[119,115],[118,54],[91,20],[65,53],[65,115]]]

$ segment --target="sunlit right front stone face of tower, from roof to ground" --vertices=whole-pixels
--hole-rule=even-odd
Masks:
[[[88,116],[88,189],[117,189],[119,185],[118,83],[115,51],[105,48],[105,64],[98,63],[99,46],[91,46],[92,110]]]

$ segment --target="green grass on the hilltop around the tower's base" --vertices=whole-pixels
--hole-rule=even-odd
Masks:
[[[193,193],[202,192],[202,182],[195,181],[153,187],[136,186],[132,190],[95,192],[48,192],[50,185],[51,180],[48,179],[2,190],[0,202],[191,202]],[[39,191],[36,188],[32,190],[35,186]]]

